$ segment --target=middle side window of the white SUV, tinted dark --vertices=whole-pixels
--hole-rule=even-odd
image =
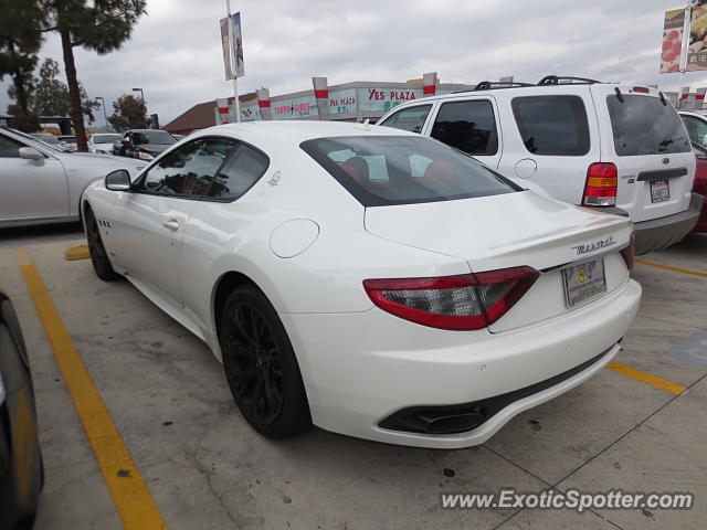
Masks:
[[[469,155],[498,152],[496,118],[488,99],[444,103],[431,136]]]

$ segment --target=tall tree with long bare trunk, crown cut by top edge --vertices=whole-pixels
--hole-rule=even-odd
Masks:
[[[118,50],[130,39],[137,20],[146,13],[145,6],[146,0],[43,0],[50,21],[43,30],[56,31],[61,36],[71,116],[80,151],[88,150],[88,146],[74,47],[82,46],[99,55]]]

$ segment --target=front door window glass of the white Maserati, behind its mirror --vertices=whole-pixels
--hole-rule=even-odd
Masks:
[[[159,160],[143,182],[147,191],[178,197],[201,197],[235,146],[226,138],[190,141]]]

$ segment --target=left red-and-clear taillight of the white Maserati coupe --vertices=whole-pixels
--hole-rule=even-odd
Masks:
[[[381,309],[440,329],[482,329],[508,311],[540,276],[515,267],[437,278],[367,279],[363,288]]]

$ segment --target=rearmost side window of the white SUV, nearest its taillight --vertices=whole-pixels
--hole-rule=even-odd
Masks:
[[[589,121],[581,97],[516,97],[510,106],[529,152],[564,157],[589,152]]]

